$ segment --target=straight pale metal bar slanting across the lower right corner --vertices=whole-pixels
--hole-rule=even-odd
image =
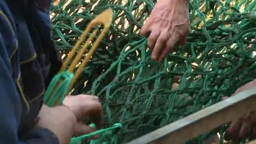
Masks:
[[[127,144],[181,144],[204,132],[256,110],[256,89],[238,93]],[[253,106],[254,105],[254,106]]]

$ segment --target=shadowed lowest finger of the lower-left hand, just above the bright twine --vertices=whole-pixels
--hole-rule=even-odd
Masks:
[[[74,135],[75,136],[81,136],[81,135],[86,135],[89,133],[93,133],[95,132],[96,129],[93,127],[89,127],[87,125],[84,125],[83,123],[77,123],[75,125],[75,131],[74,131]],[[93,136],[93,139],[97,139],[99,136]]]

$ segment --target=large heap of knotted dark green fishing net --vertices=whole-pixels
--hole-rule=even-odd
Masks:
[[[256,0],[190,0],[187,43],[162,64],[151,61],[147,37],[139,34],[155,3],[60,0],[51,6],[52,35],[63,59],[96,15],[107,8],[114,12],[109,32],[72,92],[99,96],[105,128],[123,125],[100,136],[98,144],[110,143],[114,134],[118,143],[136,139],[231,96],[256,78]],[[203,143],[210,135],[187,143]]]

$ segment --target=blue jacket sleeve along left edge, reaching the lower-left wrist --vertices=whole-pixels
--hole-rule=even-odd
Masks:
[[[46,128],[34,128],[25,140],[19,140],[22,102],[13,78],[13,71],[19,66],[13,66],[10,60],[11,38],[15,37],[7,10],[5,3],[0,1],[0,144],[59,144],[56,135]]]

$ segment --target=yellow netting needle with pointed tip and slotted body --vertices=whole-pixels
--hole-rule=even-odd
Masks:
[[[103,11],[101,14],[99,14],[98,16],[96,16],[95,19],[93,19],[89,24],[88,27],[85,29],[85,31],[83,32],[83,34],[80,36],[79,40],[77,40],[77,43],[75,44],[75,47],[72,49],[72,51],[69,53],[67,60],[63,62],[61,69],[59,71],[62,72],[67,68],[67,65],[69,63],[69,61],[72,60],[72,58],[74,57],[78,47],[81,45],[81,43],[83,42],[83,40],[85,39],[85,37],[88,35],[88,33],[90,32],[90,30],[98,24],[103,24],[104,28],[101,31],[99,37],[96,39],[95,43],[93,43],[90,51],[87,53],[87,56],[85,56],[85,59],[83,60],[83,62],[80,64],[80,66],[78,67],[77,71],[74,74],[74,77],[69,85],[69,90],[68,93],[71,91],[74,83],[76,82],[78,76],[80,75],[80,73],[83,71],[84,67],[86,66],[86,64],[88,63],[88,61],[91,59],[91,56],[93,55],[93,52],[96,50],[97,46],[99,45],[99,43],[101,42],[101,40],[104,38],[104,35],[106,34],[106,32],[108,31],[111,22],[112,22],[112,9],[107,9],[105,11]],[[74,61],[72,62],[72,64],[69,66],[68,71],[70,73],[73,73],[75,66],[78,64],[78,62],[81,60],[81,58],[83,57],[84,52],[87,50],[88,45],[90,43],[90,41],[93,40],[93,38],[96,35],[96,32],[98,31],[98,29],[95,29],[92,33],[92,35],[88,38],[88,40],[86,40],[85,44],[83,45],[81,51],[79,51],[79,53],[77,53],[77,56],[75,57]],[[60,82],[61,83],[61,82]],[[57,99],[57,101],[55,102],[55,106],[59,103],[60,98]]]

